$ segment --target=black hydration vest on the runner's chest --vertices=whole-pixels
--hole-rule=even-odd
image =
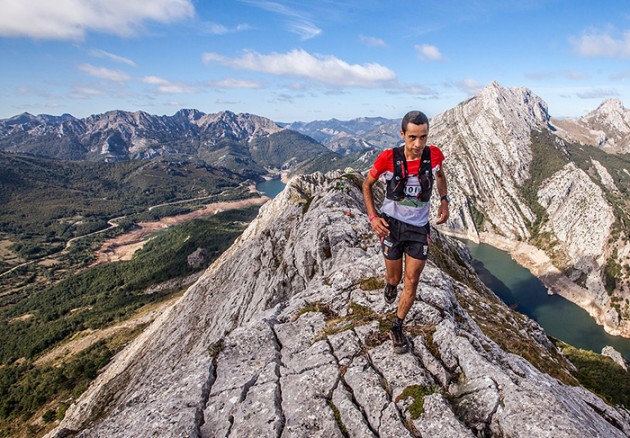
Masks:
[[[418,170],[418,181],[420,186],[416,193],[408,193],[407,178],[407,158],[405,158],[405,147],[400,146],[392,149],[394,158],[394,176],[387,182],[385,197],[392,201],[402,201],[406,197],[415,197],[422,202],[429,202],[431,191],[433,190],[433,169],[431,167],[431,148],[427,145],[422,150],[420,157],[420,167]],[[415,187],[414,187],[415,188]]]

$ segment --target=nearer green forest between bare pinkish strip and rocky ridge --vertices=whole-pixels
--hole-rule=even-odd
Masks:
[[[63,417],[68,400],[78,397],[141,327],[98,342],[61,364],[35,365],[38,356],[78,332],[127,320],[143,306],[181,293],[144,291],[207,267],[257,211],[258,207],[230,210],[180,224],[159,233],[132,260],[85,269],[16,304],[5,303],[0,317],[0,425],[4,436],[21,430],[24,421],[44,407],[44,421]],[[205,249],[209,257],[203,266],[192,268],[187,257],[197,248]]]

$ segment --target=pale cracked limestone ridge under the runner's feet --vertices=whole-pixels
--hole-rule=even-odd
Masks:
[[[630,435],[438,230],[393,354],[362,179],[294,178],[48,436]]]

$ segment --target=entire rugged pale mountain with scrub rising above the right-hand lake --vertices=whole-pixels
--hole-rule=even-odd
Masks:
[[[622,118],[609,107],[617,108],[603,105],[588,120]],[[627,160],[569,143],[525,88],[492,83],[431,122],[430,141],[447,157],[450,231],[512,252],[529,244],[519,261],[552,292],[630,336]]]

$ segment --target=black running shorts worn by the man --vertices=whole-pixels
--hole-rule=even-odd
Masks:
[[[426,260],[429,256],[431,227],[427,223],[417,227],[401,222],[393,217],[382,216],[389,224],[389,236],[381,239],[383,255],[388,260],[398,260],[403,253],[418,260]]]

